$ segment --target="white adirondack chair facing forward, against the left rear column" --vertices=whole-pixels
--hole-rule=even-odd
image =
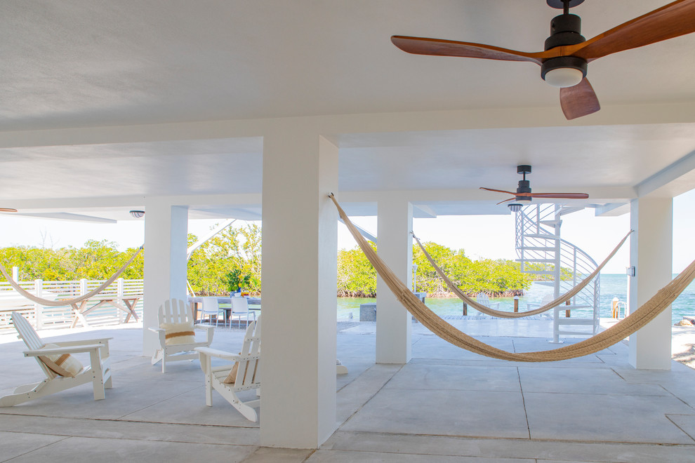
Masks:
[[[152,356],[152,365],[161,361],[161,373],[166,372],[166,362],[198,358],[194,349],[196,347],[209,347],[215,334],[214,326],[194,325],[191,308],[180,299],[171,299],[161,304],[157,318],[159,328],[150,328],[151,331],[157,333],[159,340],[159,349]],[[166,342],[167,329],[170,331],[168,344]],[[194,338],[194,330],[206,330],[206,339],[197,342]],[[173,333],[173,331],[178,331],[178,333]],[[176,339],[177,334],[181,335],[180,339],[172,341]],[[190,342],[181,342],[183,338]]]

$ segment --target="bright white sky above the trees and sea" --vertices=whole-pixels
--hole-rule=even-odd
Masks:
[[[692,204],[695,190],[673,200],[673,271],[684,269],[695,260],[695,217]],[[562,238],[583,249],[596,262],[601,262],[630,229],[630,215],[595,217],[592,209],[564,215]],[[376,234],[376,217],[353,217],[355,224]],[[191,220],[189,233],[201,236],[220,220]],[[244,224],[241,220],[234,226]],[[260,223],[260,222],[258,222]],[[144,220],[125,220],[117,224],[93,224],[43,220],[33,217],[0,215],[0,247],[45,246],[81,247],[89,239],[114,241],[119,249],[135,248],[144,241]],[[443,246],[463,249],[468,257],[515,259],[513,215],[440,216],[413,220],[413,231],[421,241],[434,241]],[[356,246],[348,229],[338,224],[338,248]],[[604,268],[604,273],[622,274],[629,266],[626,243]]]

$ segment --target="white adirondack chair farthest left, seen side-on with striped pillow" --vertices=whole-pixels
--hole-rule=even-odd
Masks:
[[[46,379],[41,382],[24,384],[17,387],[13,394],[0,398],[0,406],[8,407],[31,401],[34,398],[48,396],[54,392],[65,391],[71,387],[91,382],[94,389],[94,400],[98,401],[106,398],[104,389],[111,388],[111,364],[109,358],[110,337],[84,340],[53,342],[54,346],[45,347],[46,343],[41,340],[34,328],[29,324],[19,312],[12,312],[12,322],[19,333],[19,337],[27,344],[28,351],[24,352],[25,357],[34,357],[39,362],[41,370],[46,374]],[[78,354],[88,352],[90,365],[82,367],[74,373],[74,377],[61,376],[51,370],[44,362],[53,363],[48,356],[65,356],[65,354]],[[46,360],[44,360],[44,358]],[[58,362],[58,361],[56,361]],[[55,363],[53,367],[56,368]],[[58,367],[60,370],[60,367]]]

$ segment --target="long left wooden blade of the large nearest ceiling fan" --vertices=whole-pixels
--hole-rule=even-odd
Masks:
[[[459,56],[461,58],[483,58],[486,60],[531,61],[541,65],[545,53],[526,53],[509,50],[484,43],[458,42],[425,37],[391,36],[392,43],[407,53],[416,55]]]

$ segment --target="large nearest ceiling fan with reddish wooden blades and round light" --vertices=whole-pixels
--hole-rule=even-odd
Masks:
[[[594,89],[586,79],[587,63],[618,51],[638,48],[695,32],[695,0],[676,0],[650,13],[586,40],[581,35],[581,18],[569,8],[584,0],[546,0],[562,15],[550,21],[545,51],[527,53],[484,43],[459,42],[394,35],[391,41],[402,51],[416,55],[458,56],[487,60],[530,61],[541,66],[541,77],[560,87],[560,106],[567,119],[601,109]]]

